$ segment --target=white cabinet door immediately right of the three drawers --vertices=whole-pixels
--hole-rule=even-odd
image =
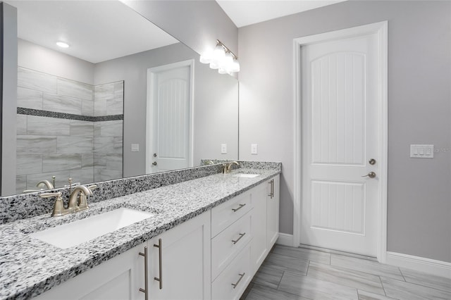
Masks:
[[[266,243],[266,183],[252,189],[252,244],[251,259],[252,270],[257,272],[268,254]]]

